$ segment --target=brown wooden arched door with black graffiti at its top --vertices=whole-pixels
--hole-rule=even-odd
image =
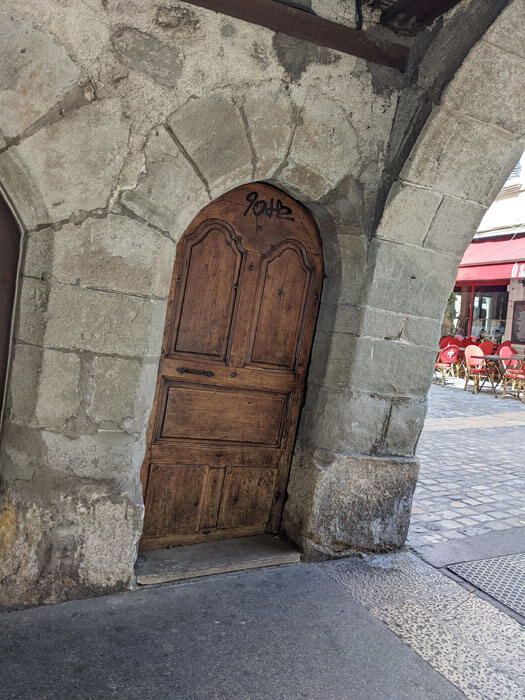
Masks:
[[[225,194],[185,232],[142,469],[142,549],[278,529],[322,277],[312,216],[268,185]]]

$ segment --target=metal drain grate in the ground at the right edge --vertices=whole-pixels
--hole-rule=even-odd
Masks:
[[[525,616],[525,554],[451,564],[448,568]]]

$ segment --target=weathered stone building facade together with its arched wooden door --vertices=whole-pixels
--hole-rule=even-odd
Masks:
[[[443,312],[523,151],[525,6],[278,4],[0,10],[2,605],[132,585],[144,490],[144,538],[404,543]]]

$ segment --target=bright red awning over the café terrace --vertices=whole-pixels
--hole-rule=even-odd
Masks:
[[[525,278],[525,236],[473,241],[459,264],[456,282],[501,282]]]

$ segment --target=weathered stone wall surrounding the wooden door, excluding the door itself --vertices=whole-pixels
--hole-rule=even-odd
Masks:
[[[131,585],[175,246],[250,181],[310,208],[325,258],[286,532],[310,559],[402,546],[443,309],[523,150],[525,5],[505,4],[460,3],[402,81],[184,3],[5,3],[24,253],[0,604]]]

